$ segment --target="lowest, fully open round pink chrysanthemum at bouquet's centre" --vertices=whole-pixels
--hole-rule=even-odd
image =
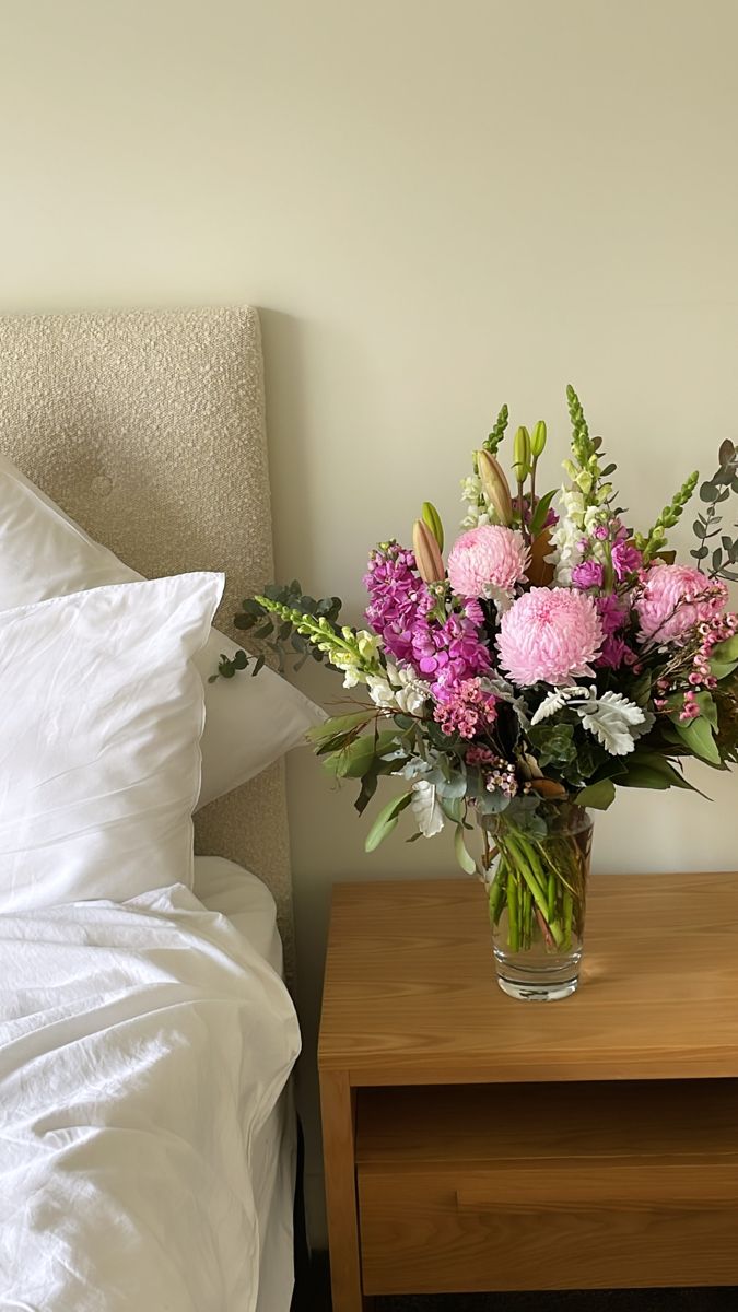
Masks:
[[[500,619],[500,663],[515,684],[566,684],[591,674],[603,642],[592,597],[567,588],[532,588]]]

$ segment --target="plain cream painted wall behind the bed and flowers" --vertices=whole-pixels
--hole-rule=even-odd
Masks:
[[[737,437],[737,43],[734,0],[0,0],[0,307],[261,307],[278,571],[353,617],[503,400],[554,482],[574,382],[645,525]],[[596,866],[735,865],[701,782],[621,798]],[[348,791],[289,785],[319,1239],[330,886],[452,859],[366,858]]]

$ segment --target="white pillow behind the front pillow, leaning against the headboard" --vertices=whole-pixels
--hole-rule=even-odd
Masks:
[[[0,455],[0,609],[138,579]],[[209,684],[221,653],[232,657],[236,651],[238,644],[214,628],[197,657],[205,684],[198,807],[265,770],[324,719],[271,669]]]

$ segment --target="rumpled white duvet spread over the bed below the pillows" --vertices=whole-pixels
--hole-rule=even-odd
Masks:
[[[0,1308],[253,1312],[253,1136],[299,1050],[183,886],[0,916]]]

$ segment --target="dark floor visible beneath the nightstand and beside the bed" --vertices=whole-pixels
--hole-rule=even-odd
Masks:
[[[316,1253],[295,1312],[331,1312],[328,1261]],[[578,1290],[567,1294],[427,1294],[377,1299],[376,1312],[738,1312],[738,1290]]]

